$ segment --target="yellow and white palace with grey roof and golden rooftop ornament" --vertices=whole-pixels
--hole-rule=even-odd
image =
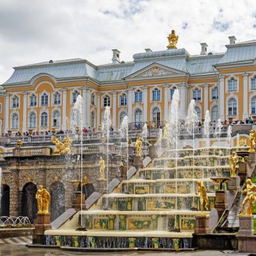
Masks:
[[[198,55],[177,49],[175,31],[168,40],[166,50],[145,49],[128,62],[114,49],[112,63],[106,65],[74,59],[15,67],[2,84],[1,133],[65,131],[78,95],[83,97],[84,127],[99,127],[106,106],[114,129],[125,115],[136,124],[166,121],[175,88],[181,120],[191,99],[200,120],[207,109],[212,121],[256,116],[256,40],[236,43],[229,36],[225,52],[207,52],[202,43]]]

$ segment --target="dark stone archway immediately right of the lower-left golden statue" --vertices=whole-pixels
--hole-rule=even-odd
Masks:
[[[50,186],[51,195],[51,221],[65,212],[65,186],[62,182],[53,182]]]

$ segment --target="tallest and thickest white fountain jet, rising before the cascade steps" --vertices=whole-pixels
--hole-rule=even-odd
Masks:
[[[178,132],[180,127],[179,122],[179,102],[180,102],[180,95],[179,90],[176,89],[173,93],[173,99],[170,109],[170,132],[169,132],[169,143],[171,148],[175,148],[175,211],[177,211],[177,166],[178,166]],[[177,214],[175,214],[175,228],[177,227]]]

